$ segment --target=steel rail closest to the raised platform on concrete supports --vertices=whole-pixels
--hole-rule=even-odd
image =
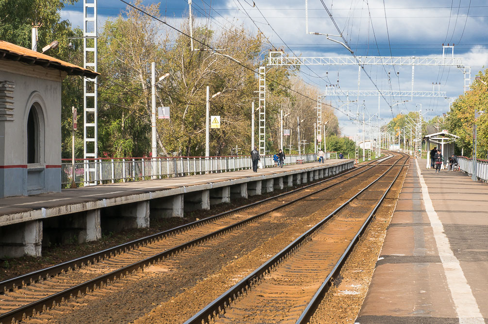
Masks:
[[[372,162],[375,162],[375,160],[371,161],[371,163]],[[361,165],[360,168],[361,167],[364,167],[366,165],[367,164]],[[191,223],[188,223],[188,224],[184,224],[184,225],[175,227],[173,229],[168,229],[168,230],[165,230],[165,231],[162,231],[162,232],[159,232],[159,233],[155,233],[155,234],[152,234],[152,235],[149,235],[149,236],[145,236],[145,237],[142,237],[142,238],[139,238],[139,239],[136,239],[136,240],[127,242],[127,243],[123,243],[121,245],[118,245],[118,246],[115,246],[115,247],[112,247],[112,248],[107,248],[107,249],[104,249],[102,251],[94,252],[94,253],[91,253],[91,254],[82,256],[80,258],[76,258],[76,259],[73,259],[73,260],[70,260],[70,261],[63,262],[63,263],[60,263],[58,265],[54,265],[54,266],[51,266],[51,267],[46,267],[46,268],[39,269],[39,270],[36,270],[36,271],[33,271],[33,272],[29,272],[29,273],[20,275],[18,277],[11,278],[11,279],[8,279],[8,280],[5,280],[5,281],[0,282],[0,287],[3,287],[3,290],[4,291],[7,291],[7,290],[13,290],[13,289],[15,289],[16,287],[19,287],[19,286],[26,286],[26,285],[29,285],[31,283],[39,282],[42,279],[48,278],[48,277],[53,276],[53,275],[57,275],[57,274],[59,274],[59,273],[61,273],[63,271],[70,271],[71,269],[76,269],[78,267],[83,267],[84,265],[86,265],[88,263],[96,263],[96,262],[103,261],[107,257],[109,258],[109,257],[115,256],[117,254],[120,254],[122,252],[126,252],[126,251],[128,251],[130,249],[139,248],[139,247],[141,247],[143,245],[147,245],[147,244],[153,243],[153,242],[155,242],[157,240],[160,240],[162,238],[165,238],[165,237],[168,237],[168,236],[172,236],[172,235],[175,235],[175,234],[179,234],[179,233],[181,233],[181,232],[183,232],[185,230],[194,229],[197,226],[202,226],[202,225],[204,225],[206,223],[209,223],[209,222],[212,222],[212,221],[214,221],[216,219],[219,219],[219,218],[228,216],[228,215],[230,215],[232,213],[236,213],[236,212],[239,212],[239,211],[242,211],[242,210],[246,210],[248,208],[252,208],[252,207],[258,206],[258,205],[263,204],[263,203],[266,203],[268,201],[281,198],[281,197],[283,197],[285,195],[292,194],[292,193],[295,193],[297,191],[300,191],[300,190],[303,190],[303,189],[306,189],[306,188],[310,188],[312,186],[316,186],[316,185],[322,184],[322,183],[324,183],[326,181],[335,179],[335,178],[340,177],[340,176],[343,176],[343,175],[345,175],[345,174],[347,174],[349,172],[353,172],[353,171],[357,171],[357,170],[358,169],[354,168],[354,169],[351,169],[349,171],[346,171],[346,172],[343,172],[341,174],[338,174],[336,176],[333,176],[333,177],[324,179],[322,181],[318,181],[318,182],[315,182],[315,183],[312,183],[312,184],[309,184],[309,185],[300,187],[298,189],[294,189],[294,190],[291,190],[291,191],[287,191],[287,192],[278,194],[278,195],[273,196],[273,197],[269,197],[269,198],[266,198],[266,199],[263,199],[263,200],[260,200],[260,201],[251,203],[251,204],[247,204],[247,205],[244,205],[242,207],[238,207],[238,208],[233,209],[233,210],[227,210],[227,211],[221,212],[221,213],[219,213],[217,215],[213,215],[213,216],[210,216],[210,217],[207,217],[207,218],[198,220],[198,221],[194,221],[194,222],[191,222]]]

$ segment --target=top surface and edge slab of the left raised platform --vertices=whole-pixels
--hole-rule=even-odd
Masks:
[[[325,165],[336,165],[352,160],[330,159]],[[285,165],[283,168],[271,167],[233,172],[210,173],[147,181],[106,184],[77,189],[64,189],[58,193],[43,193],[34,196],[17,196],[0,198],[0,226],[35,218],[45,218],[55,215],[96,209],[104,206],[117,205],[138,200],[155,198],[175,193],[202,190],[219,186],[219,182],[235,180],[235,183],[248,182],[267,178],[277,173],[292,174],[306,169],[314,169],[323,164],[311,162],[305,164]],[[157,193],[157,194],[155,194]],[[127,198],[130,197],[130,198]],[[131,201],[127,201],[131,199]],[[101,203],[103,206],[101,206]],[[90,206],[93,205],[93,206]],[[100,206],[99,206],[100,205]],[[34,215],[43,213],[43,215]]]

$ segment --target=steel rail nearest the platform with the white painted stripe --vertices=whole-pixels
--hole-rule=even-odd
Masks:
[[[409,158],[407,158],[407,161],[408,160],[409,160]],[[385,193],[380,198],[380,200],[378,201],[378,203],[376,204],[374,209],[369,213],[369,215],[366,218],[366,221],[364,222],[363,226],[361,227],[361,229],[359,229],[357,234],[352,239],[351,243],[347,246],[346,251],[343,253],[343,255],[341,256],[339,261],[337,261],[334,268],[332,268],[330,273],[327,275],[324,282],[319,287],[319,289],[317,290],[315,295],[312,297],[312,299],[310,300],[308,305],[305,307],[305,310],[302,312],[302,315],[298,318],[298,320],[295,324],[307,324],[310,322],[311,317],[313,316],[313,314],[315,314],[315,311],[317,310],[317,308],[322,303],[324,295],[327,293],[329,288],[332,286],[333,280],[340,274],[341,269],[344,266],[344,264],[346,263],[347,258],[351,254],[351,252],[354,249],[354,247],[356,246],[356,244],[361,239],[361,236],[364,234],[367,226],[371,222],[373,215],[378,211],[378,209],[380,208],[380,205],[385,200],[386,195],[388,194],[388,192],[390,191],[390,189],[393,187],[394,183],[396,182],[396,180],[400,176],[400,173],[402,172],[403,168],[406,166],[407,161],[405,161],[406,162],[405,164],[400,165],[401,168],[398,171],[397,175],[395,176],[395,179],[393,179],[393,181],[389,185],[388,189],[386,189]]]

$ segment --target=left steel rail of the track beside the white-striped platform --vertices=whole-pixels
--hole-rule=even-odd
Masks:
[[[397,162],[399,162],[403,157],[398,159]],[[323,226],[325,226],[326,222],[329,221],[335,214],[337,214],[340,210],[345,208],[351,201],[356,199],[360,194],[365,192],[369,187],[371,187],[373,184],[375,184],[377,181],[379,181],[383,176],[386,175],[391,169],[393,169],[393,166],[390,166],[383,174],[381,174],[378,178],[376,178],[373,182],[368,184],[365,188],[363,188],[361,191],[356,193],[354,196],[352,196],[350,199],[348,199],[344,204],[339,206],[337,209],[332,211],[329,215],[327,215],[324,219],[322,219],[319,223],[317,223],[315,226],[313,226],[311,229],[308,229],[305,233],[300,235],[297,239],[295,239],[293,242],[291,242],[288,246],[286,246],[284,249],[282,249],[280,252],[275,254],[273,257],[271,257],[268,261],[266,261],[263,265],[258,267],[256,270],[251,272],[249,275],[244,277],[239,283],[236,285],[232,286],[229,288],[227,291],[225,291],[222,295],[217,297],[215,300],[213,300],[210,304],[206,305],[203,309],[201,309],[197,314],[192,316],[190,319],[185,321],[183,324],[202,324],[202,323],[210,323],[210,321],[224,309],[230,305],[230,303],[239,296],[241,296],[245,291],[247,291],[251,286],[254,286],[261,278],[266,273],[270,273],[271,269],[273,267],[276,267],[279,265],[282,261],[285,260],[285,258],[292,253],[294,253],[295,250],[301,247],[302,244],[305,242],[308,242],[311,240],[310,236],[317,230],[321,229]]]

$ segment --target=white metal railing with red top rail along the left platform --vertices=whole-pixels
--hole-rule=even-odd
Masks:
[[[330,154],[329,154],[330,153]],[[327,152],[328,158],[335,152]],[[317,160],[316,154],[286,155],[285,164],[296,164]],[[275,166],[272,155],[261,157],[263,168]],[[175,157],[134,157],[134,158],[98,158],[75,159],[75,183],[95,185],[162,179],[185,175],[221,173],[252,168],[249,155],[237,156],[175,156]],[[85,172],[88,170],[88,172]],[[85,175],[89,179],[85,179]],[[61,184],[68,185],[72,179],[71,159],[61,161]]]

